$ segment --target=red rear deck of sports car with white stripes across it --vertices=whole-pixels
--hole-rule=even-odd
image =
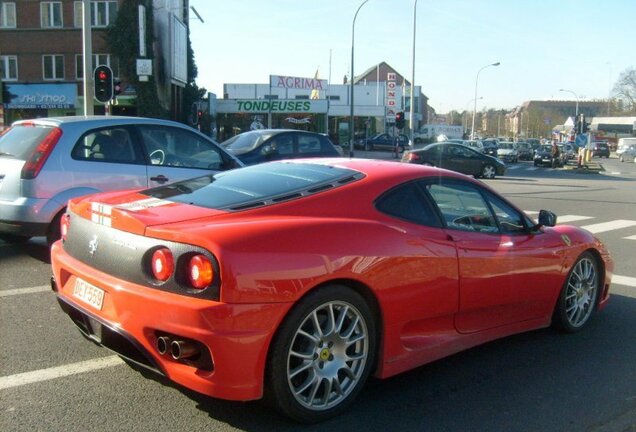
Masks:
[[[133,234],[148,234],[151,227],[185,222],[228,212],[154,198],[138,191],[89,195],[71,200],[69,211],[93,221]],[[71,221],[72,224],[72,221]]]

